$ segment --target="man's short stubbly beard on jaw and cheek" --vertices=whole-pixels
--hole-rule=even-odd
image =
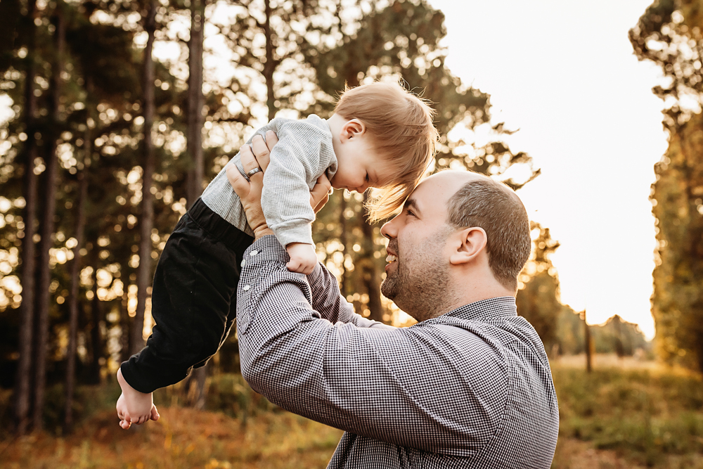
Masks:
[[[397,238],[388,243],[397,253],[398,265],[381,283],[381,293],[418,321],[449,312],[444,310],[453,299],[448,291],[449,266],[441,256],[447,235],[441,230],[420,246],[406,246],[404,252],[399,252]]]

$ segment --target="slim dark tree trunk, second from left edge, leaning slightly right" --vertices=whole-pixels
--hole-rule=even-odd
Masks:
[[[32,423],[34,430],[42,428],[42,414],[44,411],[44,388],[46,387],[46,346],[49,340],[49,285],[51,283],[51,269],[49,267],[49,250],[52,246],[53,217],[56,212],[56,176],[58,174],[58,155],[56,148],[60,137],[60,94],[61,71],[63,70],[63,49],[65,43],[65,28],[63,22],[63,4],[58,2],[54,14],[56,15],[56,30],[54,32],[55,52],[51,70],[51,117],[53,120],[53,135],[50,136],[50,150],[46,153],[46,193],[44,198],[44,219],[41,221],[41,241],[39,243],[39,283],[37,285],[37,340],[35,349],[35,375],[34,375],[34,414]]]

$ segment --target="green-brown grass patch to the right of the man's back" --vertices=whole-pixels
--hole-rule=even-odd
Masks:
[[[699,376],[619,368],[586,373],[558,366],[552,374],[560,438],[592,441],[647,465],[664,463],[668,454],[703,453]]]

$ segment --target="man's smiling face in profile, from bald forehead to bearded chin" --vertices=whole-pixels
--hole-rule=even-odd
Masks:
[[[418,321],[434,317],[437,302],[446,297],[446,239],[453,231],[446,225],[446,205],[465,182],[465,176],[449,172],[425,179],[403,212],[382,226],[389,242],[381,293]]]

